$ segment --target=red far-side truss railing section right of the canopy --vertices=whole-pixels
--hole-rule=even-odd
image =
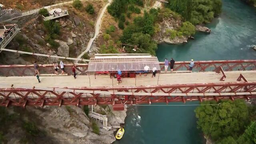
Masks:
[[[189,70],[189,62],[175,62],[174,71]],[[256,60],[216,60],[216,61],[195,61],[193,71],[210,72],[216,71],[219,67],[224,71],[256,70]],[[164,71],[164,62],[160,62],[160,68]],[[170,69],[170,67],[169,67]]]

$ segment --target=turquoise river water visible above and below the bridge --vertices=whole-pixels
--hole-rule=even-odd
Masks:
[[[241,0],[222,0],[222,14],[206,26],[211,34],[197,33],[188,44],[160,44],[159,61],[255,59],[256,10]],[[183,103],[169,103],[177,105]],[[199,104],[199,102],[187,102]],[[125,134],[115,144],[203,144],[196,128],[196,106],[132,106],[125,120]]]

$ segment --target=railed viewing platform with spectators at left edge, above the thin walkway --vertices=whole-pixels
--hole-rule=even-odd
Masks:
[[[18,28],[17,24],[5,24],[0,26],[0,49],[5,48],[19,31],[20,28]]]

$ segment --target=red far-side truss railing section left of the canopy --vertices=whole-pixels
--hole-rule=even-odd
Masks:
[[[38,64],[40,74],[54,74],[52,64]],[[76,67],[78,75],[87,75],[88,64],[66,64],[64,70],[72,74],[72,66]],[[60,68],[60,66],[58,66]],[[60,73],[61,70],[58,69]],[[35,76],[34,65],[0,65],[0,76]]]

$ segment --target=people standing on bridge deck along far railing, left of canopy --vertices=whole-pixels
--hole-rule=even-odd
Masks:
[[[52,64],[53,67],[54,67],[54,70],[55,70],[55,74],[58,75],[58,69],[61,69],[61,74],[66,74],[65,70],[64,70],[64,63],[62,62],[62,60],[60,61],[60,68],[58,67],[58,63],[53,63]],[[39,75],[40,75],[40,72],[39,72],[39,66],[37,64],[37,62],[35,61],[34,62],[34,70],[36,72],[36,78],[38,79],[38,82],[40,83],[40,78],[39,78]],[[75,66],[72,66],[72,75],[74,76],[74,78],[76,79],[76,67]]]

